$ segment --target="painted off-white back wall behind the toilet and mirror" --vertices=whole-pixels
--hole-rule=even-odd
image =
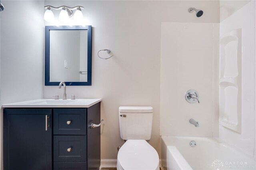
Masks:
[[[219,2],[45,1],[44,5],[82,5],[85,24],[93,27],[92,86],[68,86],[67,97],[102,98],[101,158],[116,159],[116,148],[124,143],[120,138],[118,107],[129,105],[154,108],[149,143],[159,153],[161,22],[218,23]],[[190,7],[203,9],[204,15],[197,18],[188,12]],[[54,14],[58,18],[59,11]],[[98,58],[100,49],[110,49],[114,57]],[[44,86],[44,98],[62,93],[63,89],[57,86]]]

